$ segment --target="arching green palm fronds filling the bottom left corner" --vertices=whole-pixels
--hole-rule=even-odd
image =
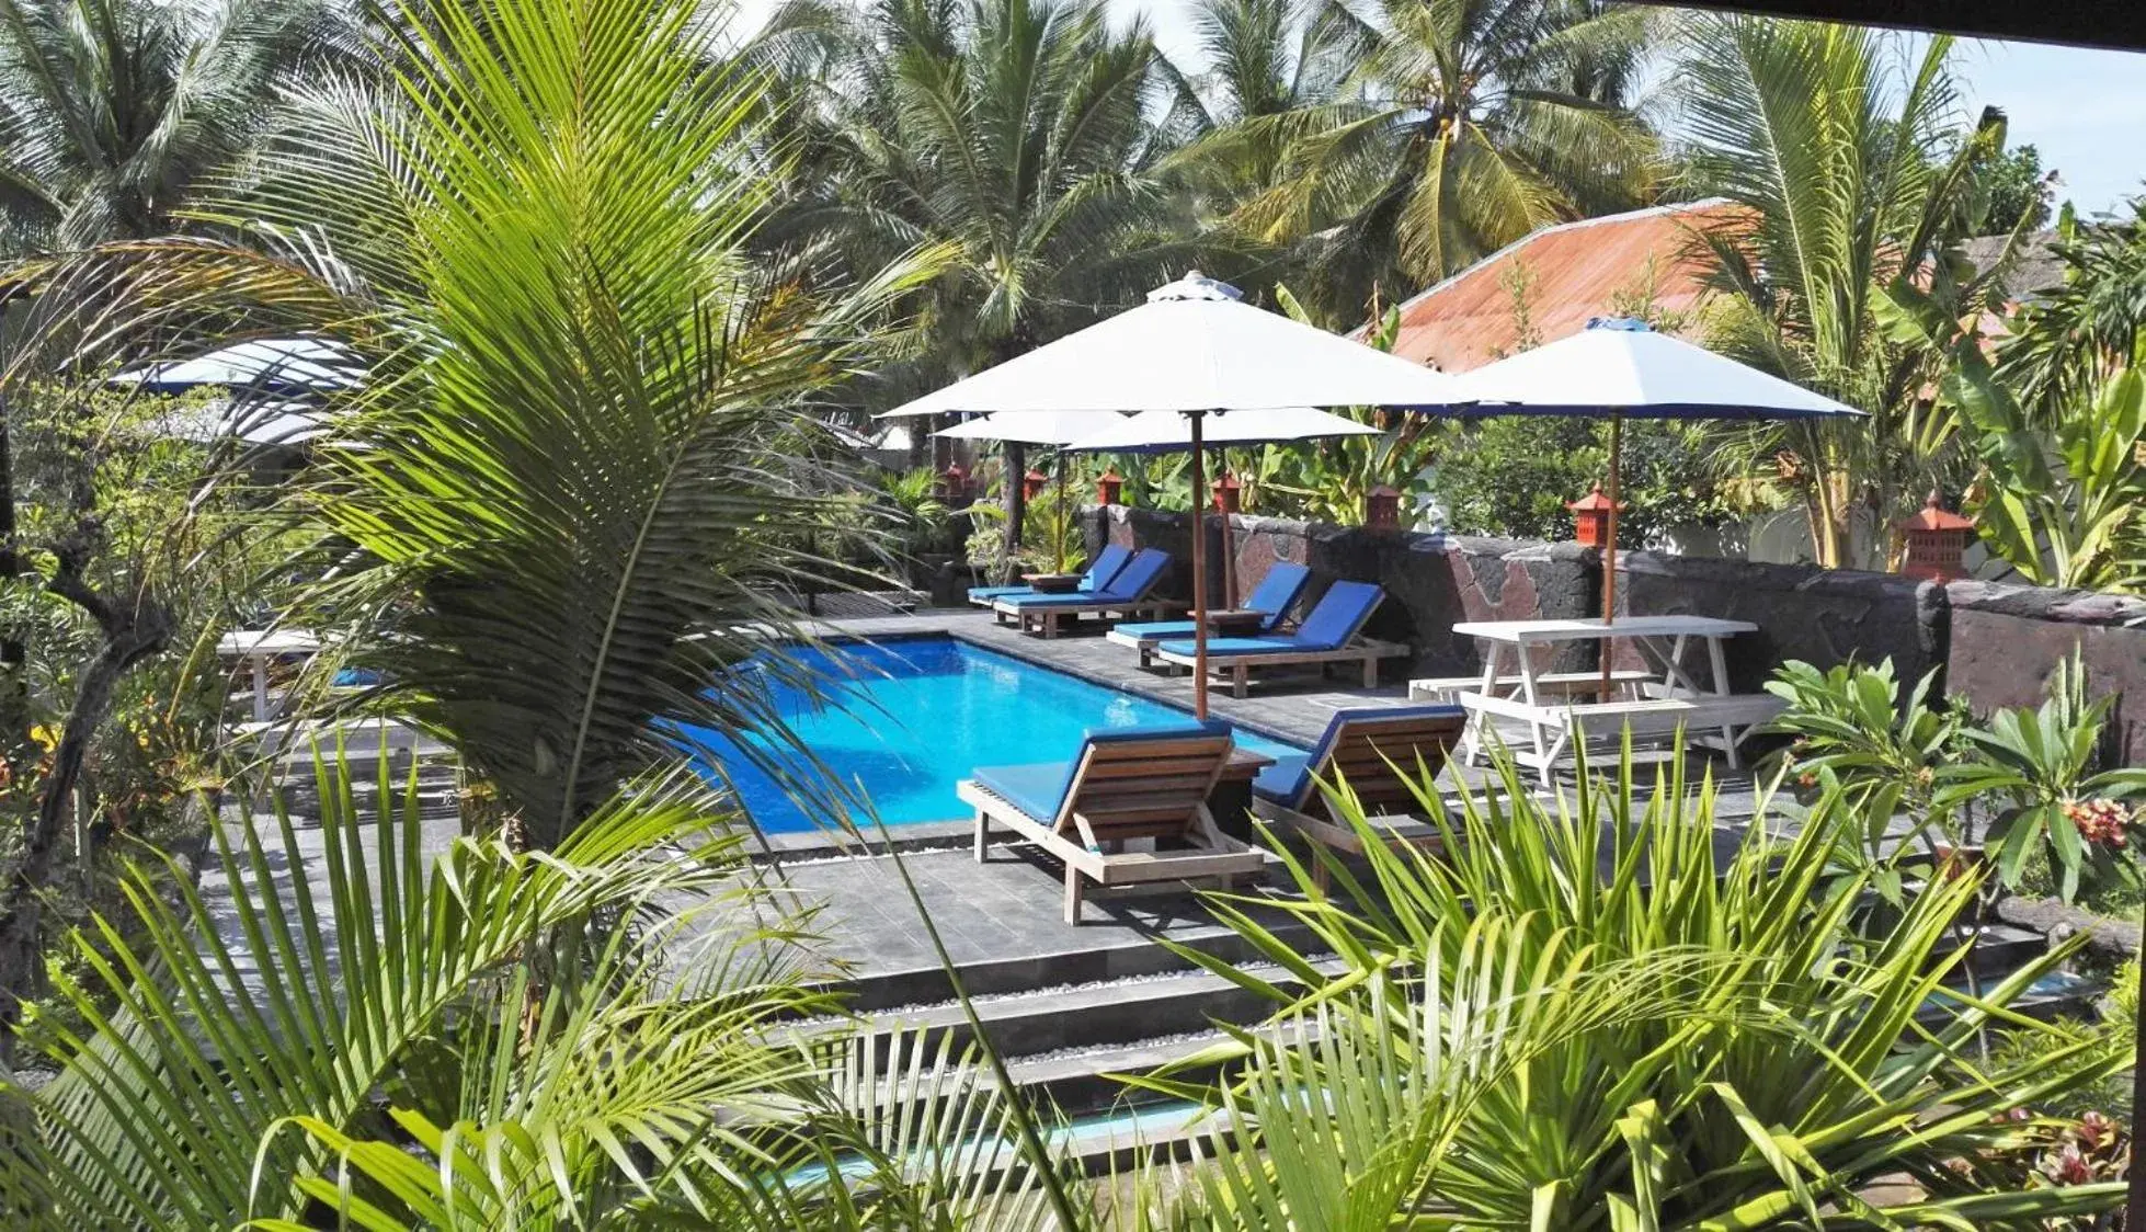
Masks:
[[[167,897],[150,856],[127,906],[73,938],[88,972],[64,992],[86,1028],[49,1032],[43,1090],[0,1088],[34,1116],[0,1155],[11,1223],[296,1228],[339,1196],[410,1208],[410,1157],[386,1142],[438,1148],[436,1127],[487,1144],[455,1176],[453,1204],[481,1221],[691,1206],[687,1165],[706,1180],[813,1159],[783,1129],[807,1118],[811,1058],[764,1028],[826,1002],[753,929],[672,966],[695,919],[751,912],[697,779],[640,783],[556,852],[483,837],[427,859],[414,781],[382,768],[393,807],[361,818],[341,764],[318,775],[307,848],[281,811],[275,837],[219,828],[221,901],[185,878]],[[240,974],[264,970],[279,974]],[[631,1165],[629,1142],[655,1165]],[[382,1150],[401,1174],[341,1189]]]

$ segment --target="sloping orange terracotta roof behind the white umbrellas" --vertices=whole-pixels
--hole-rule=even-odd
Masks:
[[[1734,223],[1725,200],[1655,206],[1530,232],[1401,305],[1395,354],[1444,371],[1481,367],[1517,346],[1509,277],[1526,266],[1528,311],[1541,341],[1579,333],[1610,316],[1612,300],[1646,285],[1661,311],[1689,311],[1706,294],[1706,262],[1693,260],[1693,232]],[[1361,331],[1358,331],[1361,333]]]

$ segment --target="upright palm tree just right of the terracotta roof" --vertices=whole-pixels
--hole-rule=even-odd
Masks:
[[[1923,397],[1951,343],[1944,322],[1972,320],[2002,277],[2002,262],[1953,277],[1953,249],[1981,230],[1974,189],[2002,118],[1961,137],[1951,60],[1951,41],[1934,39],[1895,73],[1891,34],[1708,17],[1680,71],[1695,189],[1749,206],[1706,236],[1730,292],[1710,341],[1873,414],[1758,442],[1826,567],[1850,562],[1858,507],[1906,513],[1931,485],[1955,427]]]

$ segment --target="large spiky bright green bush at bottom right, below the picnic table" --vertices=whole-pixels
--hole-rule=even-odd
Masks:
[[[1953,916],[1972,876],[1863,936],[1867,876],[1837,882],[1831,859],[1837,831],[1867,826],[1854,796],[1822,796],[1794,837],[1758,826],[1723,850],[1710,788],[1685,788],[1627,762],[1543,803],[1506,768],[1451,816],[1425,775],[1444,837],[1425,854],[1382,841],[1335,783],[1367,880],[1320,852],[1337,893],[1296,867],[1307,901],[1285,912],[1339,970],[1234,914],[1300,985],[1210,962],[1281,1017],[1187,1062],[1238,1060],[1240,1077],[1152,1082],[1228,1112],[1195,1174],[1208,1226],[1758,1228],[1831,1208],[1972,1228],[2120,1202],[2118,1183],[2028,1189],[2064,1133],[2032,1110],[2129,1065],[2127,1041],[2007,1011],[2075,947],[1959,994]],[[1989,1022],[2017,1022],[2037,1052],[1972,1065]],[[1880,1196],[1901,1174],[1921,1193]]]

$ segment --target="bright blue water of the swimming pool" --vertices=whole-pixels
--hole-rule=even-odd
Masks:
[[[841,781],[863,788],[888,826],[970,816],[953,786],[976,766],[1062,762],[1073,758],[1090,728],[1191,719],[1185,710],[1032,668],[953,637],[768,652],[841,676],[828,689],[833,704],[826,706],[815,706],[783,685],[770,689],[790,730]],[[715,751],[764,831],[813,828],[807,809],[736,745],[706,730],[689,734]],[[1236,743],[1266,756],[1298,751],[1243,728]],[[777,751],[779,745],[766,740],[755,745],[785,766],[805,768],[805,760],[790,749]],[[869,824],[863,816],[852,820]]]

